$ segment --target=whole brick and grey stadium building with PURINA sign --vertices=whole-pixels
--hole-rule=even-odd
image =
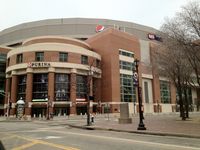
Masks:
[[[0,50],[10,50],[4,113],[15,115],[22,98],[27,117],[84,114],[87,92],[91,112],[118,113],[119,104],[128,103],[130,113],[137,113],[136,58],[144,112],[176,112],[176,89],[152,64],[159,43],[151,27],[106,19],[52,19],[3,30]],[[188,93],[195,106],[196,90]]]

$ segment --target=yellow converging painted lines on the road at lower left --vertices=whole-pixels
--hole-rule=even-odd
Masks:
[[[22,150],[22,149],[24,149],[23,146],[26,148],[26,146],[30,147],[30,146],[33,146],[35,144],[48,145],[48,146],[60,148],[60,149],[63,149],[63,150],[80,150],[80,149],[77,149],[77,148],[74,148],[74,147],[69,147],[69,146],[64,146],[64,145],[49,143],[49,142],[42,141],[42,140],[35,140],[35,139],[29,138],[29,137],[23,137],[23,136],[19,136],[19,135],[15,135],[15,134],[13,136],[31,142],[29,144],[25,144],[25,145],[21,145],[19,147],[16,147],[13,150]]]

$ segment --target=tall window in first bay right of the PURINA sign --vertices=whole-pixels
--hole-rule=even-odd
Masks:
[[[55,99],[56,101],[69,101],[70,83],[68,74],[56,74],[55,78]]]

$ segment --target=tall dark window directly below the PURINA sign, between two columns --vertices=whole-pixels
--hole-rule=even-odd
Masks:
[[[48,97],[48,74],[33,75],[33,99],[44,100]]]

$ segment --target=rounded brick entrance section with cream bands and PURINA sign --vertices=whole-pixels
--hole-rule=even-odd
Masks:
[[[16,113],[20,98],[25,101],[26,116],[42,117],[48,112],[48,115],[80,114],[83,110],[77,107],[86,107],[85,94],[95,93],[92,87],[100,88],[101,78],[97,63],[101,56],[86,46],[69,38],[38,37],[8,52],[6,92],[11,93],[10,115]],[[88,80],[90,72],[93,74]],[[96,96],[94,103],[98,99]]]

